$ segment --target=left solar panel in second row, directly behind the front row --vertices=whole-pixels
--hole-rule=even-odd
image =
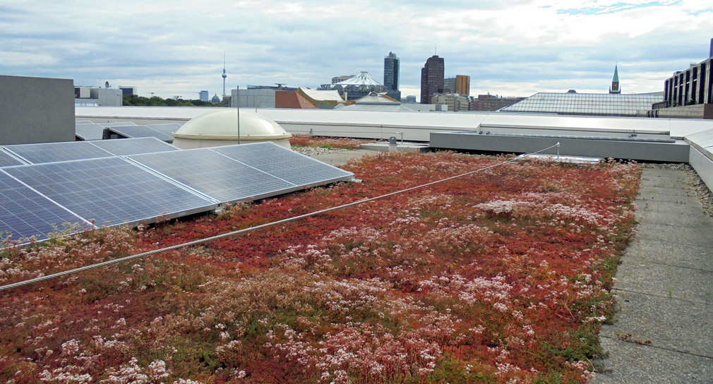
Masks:
[[[6,145],[5,149],[31,164],[111,156],[111,153],[88,141]]]

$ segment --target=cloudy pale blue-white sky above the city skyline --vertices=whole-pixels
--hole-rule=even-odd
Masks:
[[[632,0],[22,1],[0,3],[0,74],[135,85],[198,98],[227,88],[317,88],[401,58],[402,95],[419,95],[434,52],[471,95],[625,93],[707,58],[713,1]],[[623,0],[625,1],[625,0]]]

